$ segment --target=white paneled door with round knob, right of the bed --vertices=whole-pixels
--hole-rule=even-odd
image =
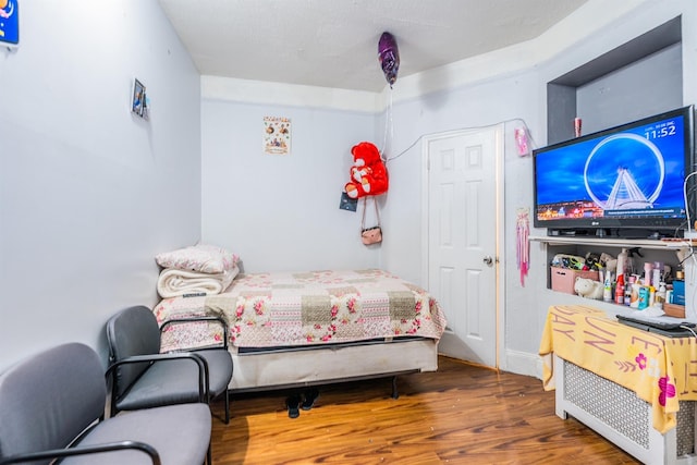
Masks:
[[[439,352],[490,367],[499,365],[502,135],[499,125],[424,140],[425,282],[448,317]]]

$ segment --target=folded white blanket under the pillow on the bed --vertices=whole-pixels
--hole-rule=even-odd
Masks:
[[[157,292],[162,298],[179,297],[184,294],[206,293],[220,294],[228,289],[240,272],[234,266],[222,273],[201,273],[197,271],[166,268],[157,281]]]

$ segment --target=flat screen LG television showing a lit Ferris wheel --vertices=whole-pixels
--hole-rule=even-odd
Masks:
[[[535,228],[681,236],[694,220],[694,139],[689,106],[534,150]]]

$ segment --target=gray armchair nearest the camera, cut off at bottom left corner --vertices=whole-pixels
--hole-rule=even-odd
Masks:
[[[192,465],[210,457],[205,403],[102,419],[107,384],[98,355],[68,343],[0,375],[0,465]],[[208,460],[210,463],[210,461]]]

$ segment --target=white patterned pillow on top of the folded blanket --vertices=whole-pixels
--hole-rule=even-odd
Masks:
[[[197,244],[155,256],[162,268],[198,271],[201,273],[222,273],[235,267],[239,257],[222,247]]]

